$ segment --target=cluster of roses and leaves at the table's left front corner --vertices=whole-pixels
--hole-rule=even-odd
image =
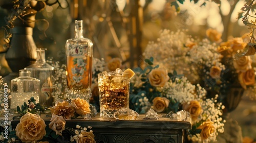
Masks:
[[[66,120],[78,116],[88,117],[86,115],[90,114],[91,110],[86,100],[76,98],[56,103],[55,106],[50,108],[52,117],[48,125],[40,117],[41,111],[45,109],[41,108],[33,97],[28,100],[28,104],[25,102],[21,107],[21,110],[17,107],[19,114],[15,117],[21,116],[21,118],[15,130],[12,130],[10,126],[9,138],[2,137],[2,132],[0,140],[4,142],[48,142],[60,141],[61,138],[65,138],[70,142],[95,142],[92,127],[82,128],[77,125],[77,129],[74,129],[66,126]],[[64,131],[65,135],[62,135]],[[67,136],[67,134],[70,136]]]

